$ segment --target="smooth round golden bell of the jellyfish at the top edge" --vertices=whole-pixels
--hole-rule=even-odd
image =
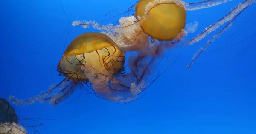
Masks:
[[[185,28],[186,10],[177,5],[181,0],[139,0],[135,17],[144,33],[159,41],[172,41]]]

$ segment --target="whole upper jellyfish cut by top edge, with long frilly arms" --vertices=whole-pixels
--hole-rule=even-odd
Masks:
[[[99,25],[95,21],[73,21],[73,26],[81,25],[88,28],[93,25],[93,28],[108,34],[116,44],[124,50],[140,51],[149,49],[152,42],[155,45],[163,45],[166,49],[177,47],[178,45],[193,45],[204,39],[212,31],[218,30],[221,25],[224,25],[212,39],[208,40],[204,48],[192,58],[187,69],[195,61],[195,59],[213,42],[216,38],[231,27],[236,17],[241,14],[248,6],[255,3],[256,0],[244,0],[239,3],[232,11],[227,13],[220,20],[206,28],[204,32],[197,35],[195,38],[185,42],[185,36],[188,33],[193,33],[196,30],[198,23],[195,25],[186,24],[186,11],[200,10],[218,6],[232,0],[206,0],[197,3],[185,3],[182,0],[139,0],[135,6],[133,15],[122,17],[119,19],[119,25]],[[129,8],[131,11],[131,8]],[[151,38],[151,40],[148,40]],[[183,42],[182,44],[180,44]]]

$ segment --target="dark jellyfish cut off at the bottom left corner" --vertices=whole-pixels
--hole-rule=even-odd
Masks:
[[[29,119],[23,117],[20,119],[9,102],[6,99],[0,98],[0,134],[28,134],[24,126],[32,128],[36,127],[30,126],[23,120]],[[41,125],[42,123],[37,126]],[[34,128],[34,132],[38,131]]]

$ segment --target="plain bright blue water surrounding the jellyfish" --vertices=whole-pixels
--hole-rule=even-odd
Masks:
[[[196,20],[198,30],[186,38],[195,37],[242,1],[187,11],[187,23]],[[70,30],[73,20],[104,20],[108,11],[126,11],[136,0],[61,2]],[[96,31],[76,28],[62,36],[69,23],[58,0],[1,0],[0,9],[1,98],[15,95],[27,99],[58,84],[63,77],[58,76],[56,65],[65,46],[81,33]],[[217,51],[202,53],[189,70],[186,65],[194,53],[214,34],[192,46],[167,51],[169,61],[164,59],[160,70],[181,55],[143,98],[132,103],[119,105],[84,95],[57,112],[58,107],[49,103],[12,106],[20,117],[47,119],[35,119],[45,123],[44,127],[35,128],[40,134],[256,134],[256,36],[240,42],[256,33],[255,11],[254,3],[206,50]],[[227,48],[220,50],[224,46]],[[78,94],[79,91],[60,106]],[[33,128],[26,129],[29,134],[34,133]]]

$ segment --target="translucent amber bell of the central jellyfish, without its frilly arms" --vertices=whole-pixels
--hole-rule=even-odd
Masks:
[[[116,43],[102,33],[84,33],[68,45],[60,62],[58,72],[66,78],[89,81],[82,66],[90,66],[90,72],[107,70],[118,73],[123,69],[125,56]]]

